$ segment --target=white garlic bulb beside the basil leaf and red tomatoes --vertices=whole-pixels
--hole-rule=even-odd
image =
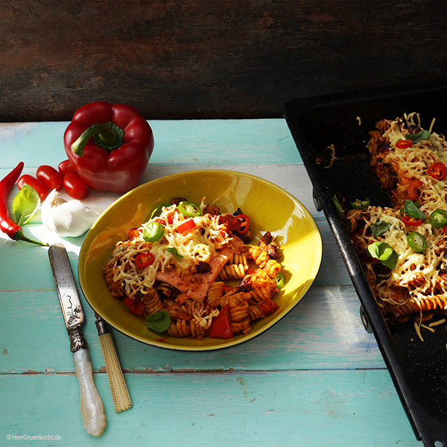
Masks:
[[[98,212],[78,200],[66,201],[52,190],[41,205],[42,223],[57,235],[76,237],[83,235],[98,219]]]

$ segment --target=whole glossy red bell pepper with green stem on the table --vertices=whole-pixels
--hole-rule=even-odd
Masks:
[[[153,132],[129,105],[91,102],[74,113],[64,146],[87,186],[123,194],[137,186],[146,169]]]

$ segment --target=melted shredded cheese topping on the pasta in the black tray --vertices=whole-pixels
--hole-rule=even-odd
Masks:
[[[376,279],[378,299],[392,305],[404,305],[409,300],[420,304],[435,296],[443,298],[444,301],[447,298],[447,281],[438,274],[439,269],[446,268],[447,265],[447,236],[441,228],[434,228],[428,221],[434,210],[447,210],[447,178],[438,180],[428,175],[428,167],[435,162],[447,164],[447,144],[444,135],[431,133],[428,140],[413,143],[410,148],[396,148],[396,142],[406,140],[408,127],[414,124],[414,118],[417,118],[417,126],[422,129],[416,113],[405,116],[405,121],[382,120],[378,123],[380,141],[389,142],[389,150],[380,152],[378,140],[373,138],[372,134],[368,144],[372,163],[391,165],[397,175],[395,197],[398,203],[395,208],[369,206],[365,210],[350,210],[347,213],[348,219],[364,221],[364,225],[358,226],[358,230],[353,233],[357,250],[364,251],[369,244],[384,241],[398,254],[397,263],[391,272],[382,276],[375,273],[372,275]],[[430,124],[430,131],[433,123],[434,121]],[[401,209],[408,198],[408,184],[413,180],[421,182],[418,193],[418,201],[421,203],[419,210],[424,212],[426,217],[421,225],[407,227],[401,220],[404,217]],[[383,235],[375,238],[369,228],[380,220],[390,223],[390,227]],[[413,231],[419,232],[426,239],[427,248],[422,253],[413,252],[408,246],[406,237]],[[366,267],[373,272],[373,261],[367,262]],[[406,288],[409,295],[396,293],[396,287]],[[404,296],[407,298],[403,298]],[[422,307],[421,305],[420,308]]]

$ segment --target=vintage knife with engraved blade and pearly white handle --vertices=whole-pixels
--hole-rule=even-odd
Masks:
[[[54,283],[69,335],[76,376],[79,380],[80,413],[84,419],[84,428],[89,435],[100,436],[107,426],[107,417],[104,413],[104,404],[95,386],[87,342],[81,328],[84,312],[80,305],[72,266],[67,250],[61,243],[50,246],[48,257],[50,257]]]

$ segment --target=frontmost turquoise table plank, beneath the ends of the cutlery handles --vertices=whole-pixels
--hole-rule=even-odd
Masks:
[[[387,371],[126,374],[133,408],[85,433],[74,375],[3,375],[1,445],[417,447]],[[28,395],[28,399],[23,396]],[[37,444],[7,436],[50,435]]]

